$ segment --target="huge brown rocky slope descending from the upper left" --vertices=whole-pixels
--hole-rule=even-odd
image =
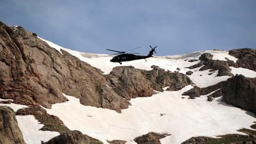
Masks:
[[[0,22],[0,52],[0,98],[50,108],[66,101],[63,92],[86,106],[120,112],[130,105],[105,87],[107,81],[99,69],[64,50],[60,54],[23,28],[13,31]]]

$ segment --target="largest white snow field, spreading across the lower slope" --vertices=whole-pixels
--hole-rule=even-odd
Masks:
[[[132,106],[122,113],[84,106],[78,98],[64,94],[68,102],[56,103],[46,110],[62,119],[69,129],[80,130],[105,144],[108,144],[106,140],[114,139],[135,143],[135,137],[148,132],[171,134],[161,139],[162,144],[178,144],[196,136],[244,134],[236,130],[250,129],[255,121],[253,113],[228,105],[221,97],[212,102],[206,101],[206,96],[182,99],[181,94],[191,88],[186,86],[180,91],[132,99]],[[166,115],[160,116],[160,113]]]

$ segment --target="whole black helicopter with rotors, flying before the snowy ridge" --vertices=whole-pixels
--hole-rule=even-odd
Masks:
[[[153,52],[155,52],[155,48],[157,46],[155,46],[154,48],[151,48],[150,52],[148,55],[135,55],[135,54],[139,54],[139,53],[126,53],[130,50],[134,50],[134,49],[137,49],[137,48],[134,48],[134,49],[130,49],[130,50],[127,50],[126,52],[119,52],[119,51],[116,51],[116,50],[111,50],[111,49],[106,49],[106,50],[110,50],[110,51],[113,51],[113,52],[117,52],[116,54],[119,54],[115,57],[113,57],[110,62],[113,62],[113,63],[120,63],[122,64],[122,62],[128,62],[128,61],[132,61],[132,60],[137,60],[137,59],[145,59],[146,58],[150,58],[150,57],[153,57]],[[138,47],[138,48],[141,48],[141,47]],[[156,52],[155,52],[156,53]],[[116,54],[111,54],[111,55],[116,55]],[[105,57],[108,57],[110,55],[107,55]]]

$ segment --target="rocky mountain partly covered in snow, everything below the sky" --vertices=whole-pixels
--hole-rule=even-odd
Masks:
[[[222,142],[213,135],[229,143],[255,140],[255,49],[120,66],[0,22],[0,53],[0,143]]]

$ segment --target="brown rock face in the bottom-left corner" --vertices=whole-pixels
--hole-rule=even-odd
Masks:
[[[0,144],[26,144],[15,112],[7,106],[0,106]]]

